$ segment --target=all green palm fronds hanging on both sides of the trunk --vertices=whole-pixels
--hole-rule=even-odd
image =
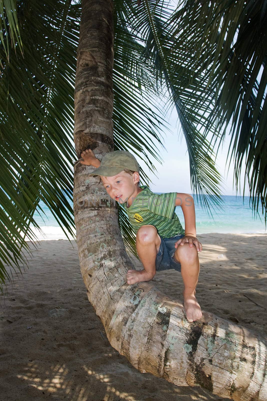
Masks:
[[[266,221],[267,14],[263,1],[114,0],[114,149],[138,154],[155,173],[167,129],[153,99],[175,107],[185,136],[192,191],[221,205],[215,156],[231,128],[229,162],[241,166]],[[0,283],[36,239],[33,218],[50,209],[75,238],[72,200],[73,104],[80,2],[0,0]],[[260,80],[260,82],[258,82]],[[149,177],[141,170],[141,184]],[[245,187],[245,181],[244,181]],[[203,196],[199,196],[203,195]],[[122,207],[124,243],[135,235]],[[11,275],[12,275],[12,270]],[[16,271],[16,269],[15,269]]]

